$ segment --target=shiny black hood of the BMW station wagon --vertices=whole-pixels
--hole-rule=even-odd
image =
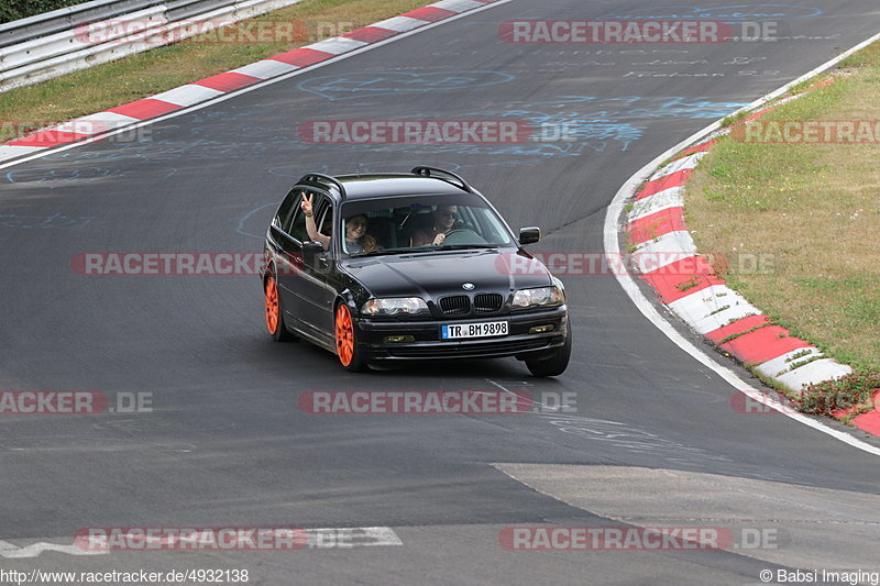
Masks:
[[[351,258],[343,268],[373,297],[418,295],[433,299],[462,292],[509,292],[553,284],[547,267],[513,250],[443,251]],[[462,287],[474,285],[472,290]]]

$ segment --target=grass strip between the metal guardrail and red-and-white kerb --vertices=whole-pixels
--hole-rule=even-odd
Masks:
[[[265,44],[217,43],[206,42],[210,37],[205,35],[156,47],[0,93],[0,121],[45,121],[43,125],[51,125],[52,122],[100,112],[425,4],[425,0],[302,0],[232,25],[246,27],[253,22],[296,22],[295,30],[299,34],[294,35],[293,42],[280,38],[280,42]],[[26,128],[28,124],[4,124],[0,143],[20,136],[20,126]],[[29,131],[33,129],[29,128]]]

